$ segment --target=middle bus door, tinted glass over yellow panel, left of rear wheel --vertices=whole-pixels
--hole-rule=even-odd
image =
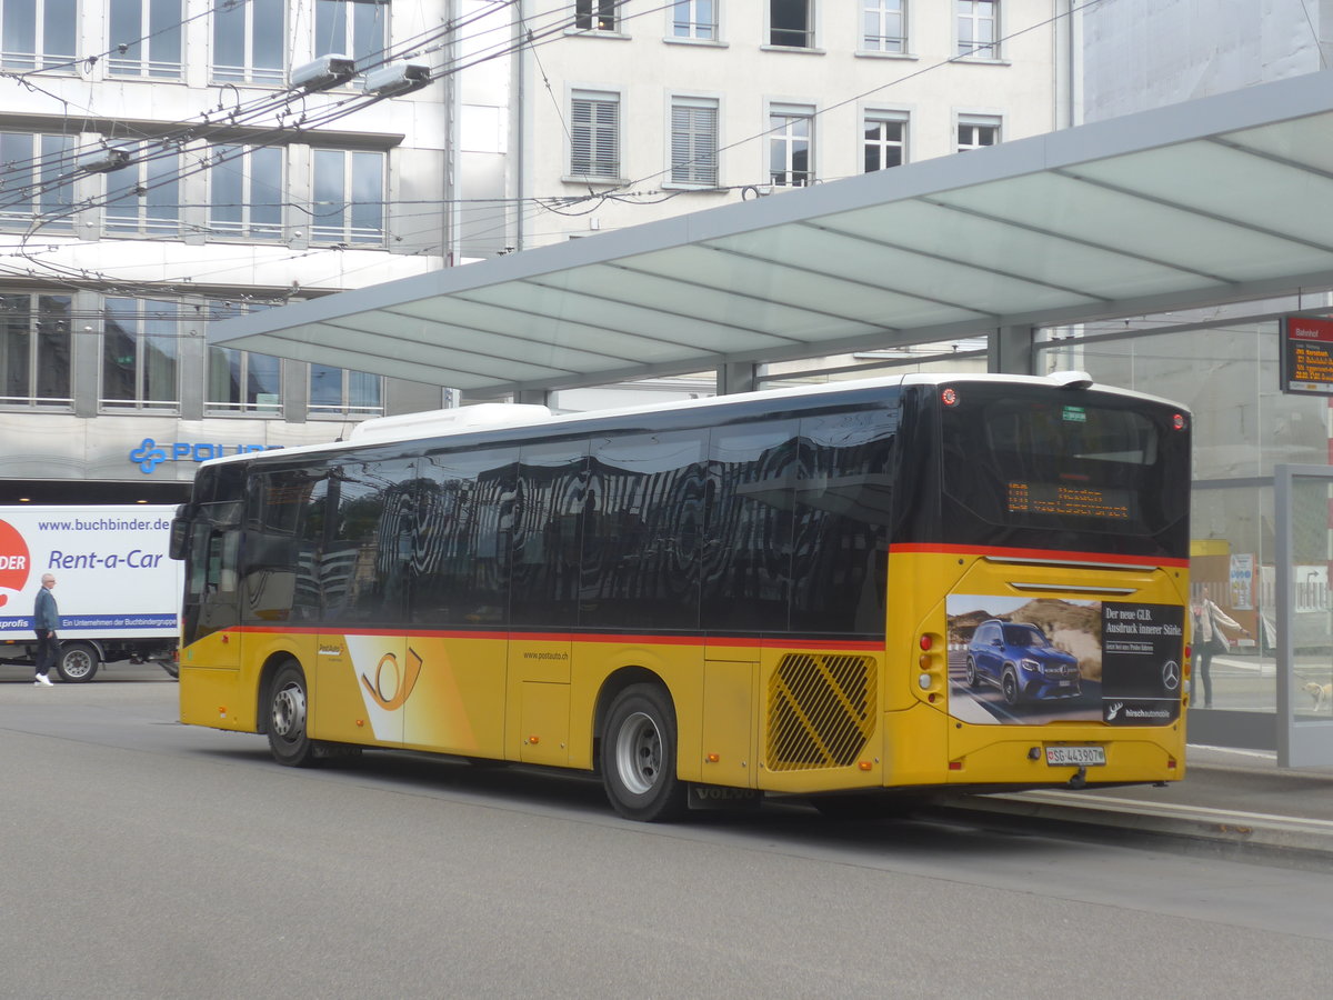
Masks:
[[[519,759],[535,764],[569,763],[588,447],[540,443],[519,453],[507,729]]]

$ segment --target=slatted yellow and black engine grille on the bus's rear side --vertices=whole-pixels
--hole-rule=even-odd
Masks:
[[[869,656],[784,656],[768,687],[768,768],[854,764],[874,729],[874,679]]]

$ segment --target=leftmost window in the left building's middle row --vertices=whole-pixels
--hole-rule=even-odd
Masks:
[[[73,228],[73,136],[0,132],[0,227],[41,232]]]

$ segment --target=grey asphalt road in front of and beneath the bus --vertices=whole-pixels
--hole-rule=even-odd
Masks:
[[[597,784],[272,764],[175,683],[0,673],[0,996],[1317,996],[1333,876],[798,804],[620,820]]]

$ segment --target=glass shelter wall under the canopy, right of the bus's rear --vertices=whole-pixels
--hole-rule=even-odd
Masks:
[[[1254,307],[1249,304],[1249,311],[1257,312]],[[1098,383],[1174,400],[1193,412],[1190,599],[1196,621],[1190,707],[1204,709],[1204,715],[1192,712],[1197,720],[1192,741],[1205,732],[1221,741],[1232,732],[1228,745],[1257,745],[1254,733],[1265,725],[1276,733],[1280,571],[1274,469],[1286,463],[1328,465],[1333,437],[1328,399],[1281,392],[1278,348],[1276,317],[1154,316],[1038,335],[1037,372],[1081,368]],[[1296,500],[1304,503],[1301,496]],[[1313,663],[1312,656],[1322,657],[1320,677],[1312,675],[1302,683],[1326,684],[1333,645],[1326,557],[1333,507],[1322,496],[1309,503],[1317,509],[1297,521],[1305,532],[1317,525],[1320,539],[1306,539],[1308,544],[1293,553],[1293,641],[1312,651],[1300,657],[1305,667]],[[1301,552],[1314,555],[1302,561]],[[1216,628],[1197,617],[1208,611],[1209,600],[1216,608],[1209,625]],[[1201,641],[1208,631],[1218,635],[1220,644]],[[1302,708],[1297,699],[1296,711],[1314,708],[1313,699],[1306,701]],[[1209,703],[1213,712],[1208,712]],[[1276,747],[1268,743],[1261,748]]]

